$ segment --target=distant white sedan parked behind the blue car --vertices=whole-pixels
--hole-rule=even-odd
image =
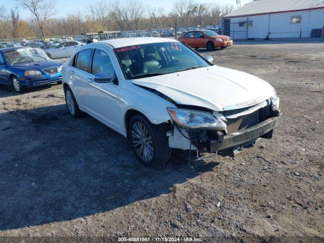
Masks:
[[[86,45],[82,42],[77,41],[67,41],[62,42],[56,47],[46,49],[46,54],[49,58],[55,59],[55,58],[67,58],[70,57],[77,48]]]

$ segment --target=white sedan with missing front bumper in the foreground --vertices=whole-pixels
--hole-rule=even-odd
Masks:
[[[63,65],[66,104],[129,138],[147,167],[172,148],[234,155],[271,138],[281,120],[275,90],[212,61],[166,38],[92,43]]]

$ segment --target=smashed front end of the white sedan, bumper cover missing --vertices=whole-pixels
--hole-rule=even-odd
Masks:
[[[202,152],[233,156],[253,146],[259,138],[272,138],[273,128],[281,121],[277,97],[221,112],[180,107],[168,108],[172,118],[169,146],[196,150],[197,157]]]

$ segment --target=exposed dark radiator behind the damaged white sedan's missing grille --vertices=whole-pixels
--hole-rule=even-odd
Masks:
[[[235,133],[253,127],[259,123],[259,111],[242,115],[237,118],[227,119],[227,134]]]

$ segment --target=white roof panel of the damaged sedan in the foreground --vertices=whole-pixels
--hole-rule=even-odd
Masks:
[[[106,43],[111,45],[113,48],[128,47],[135,45],[143,45],[150,43],[163,43],[163,42],[178,42],[175,39],[169,38],[158,38],[158,37],[132,37],[132,38],[118,38],[108,39],[107,41],[101,41],[98,43]]]

